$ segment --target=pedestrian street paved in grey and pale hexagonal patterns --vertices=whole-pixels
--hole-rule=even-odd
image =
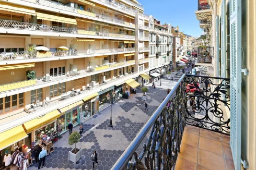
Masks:
[[[55,152],[46,157],[45,167],[41,169],[92,169],[91,154],[96,150],[99,165],[95,169],[108,170],[118,160],[120,155],[142,129],[149,117],[155,112],[167,95],[167,87],[174,86],[169,80],[162,80],[162,86],[157,82],[156,89],[148,83],[148,111],[144,111],[142,92],[137,90],[129,99],[120,100],[112,105],[113,128],[108,127],[110,122],[110,107],[85,122],[83,138],[77,143],[77,147],[83,149],[82,158],[76,163],[68,161],[68,151],[74,145],[67,143],[69,133],[54,144]],[[74,130],[78,131],[77,126]],[[146,138],[144,139],[144,143]],[[143,143],[141,144],[143,145]],[[138,150],[142,150],[139,147]],[[28,169],[36,169],[38,163],[34,163]]]

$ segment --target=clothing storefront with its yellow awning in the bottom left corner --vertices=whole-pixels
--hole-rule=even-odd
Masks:
[[[0,133],[0,169],[5,167],[3,161],[6,152],[8,154],[13,154],[17,150],[27,156],[28,166],[31,165],[32,157],[30,152],[31,149],[29,149],[32,142],[31,140],[31,133],[27,134],[21,125]],[[23,149],[22,146],[24,146]],[[16,165],[13,164],[9,165],[10,168],[15,168],[15,166]]]

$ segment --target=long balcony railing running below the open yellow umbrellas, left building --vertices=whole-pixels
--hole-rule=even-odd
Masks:
[[[64,56],[79,56],[79,55],[93,55],[93,54],[106,54],[106,53],[120,53],[135,51],[135,48],[109,48],[109,49],[88,49],[88,50],[74,50],[68,51],[51,51],[51,52],[18,52],[18,53],[0,53],[1,60],[15,60],[15,59],[32,59],[43,57],[64,57]]]

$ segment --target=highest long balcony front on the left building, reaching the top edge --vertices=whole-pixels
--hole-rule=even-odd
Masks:
[[[53,2],[53,1],[48,1],[48,0],[46,0],[46,1],[45,0],[25,0],[25,1],[32,2],[32,3],[37,3],[37,4],[40,4],[40,5],[45,5],[45,6],[49,6],[49,7],[54,7],[54,8],[57,8],[57,9],[66,10],[66,11],[69,11],[69,12],[72,12],[72,13],[82,14],[82,15],[86,15],[86,16],[90,16],[90,17],[94,17],[94,18],[100,18],[100,19],[103,19],[103,20],[108,20],[108,21],[117,22],[117,23],[121,23],[121,24],[124,24],[124,25],[135,27],[134,23],[126,22],[125,20],[121,20],[121,19],[114,18],[114,17],[108,17],[108,16],[96,14],[92,10],[87,11],[87,10],[77,9],[75,7],[63,5],[63,4],[56,3],[56,2]]]

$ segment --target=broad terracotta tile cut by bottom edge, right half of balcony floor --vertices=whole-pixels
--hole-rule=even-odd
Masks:
[[[226,169],[224,156],[220,156],[216,153],[208,152],[202,149],[199,149],[198,165],[211,170]]]

